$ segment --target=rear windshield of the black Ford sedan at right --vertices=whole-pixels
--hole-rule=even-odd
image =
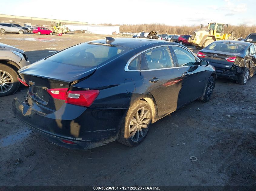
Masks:
[[[240,53],[245,48],[245,45],[231,43],[211,43],[206,49],[216,50],[228,53]]]

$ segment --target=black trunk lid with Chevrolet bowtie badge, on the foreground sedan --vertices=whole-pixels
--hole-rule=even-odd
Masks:
[[[21,68],[18,72],[29,85],[28,104],[32,107],[42,107],[44,110],[48,108],[53,112],[58,110],[65,100],[53,98],[47,90],[57,88],[68,90],[72,83],[92,75],[95,70],[96,67],[81,67],[43,59]]]

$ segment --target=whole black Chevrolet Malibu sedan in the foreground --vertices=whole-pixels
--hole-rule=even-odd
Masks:
[[[177,43],[111,38],[81,43],[19,71],[29,86],[13,100],[18,119],[66,148],[118,140],[133,147],[150,125],[186,103],[211,98],[216,73]]]

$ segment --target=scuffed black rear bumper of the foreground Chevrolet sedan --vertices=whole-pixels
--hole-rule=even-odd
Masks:
[[[54,144],[71,149],[91,149],[116,140],[127,110],[63,105],[51,114],[15,98],[14,115]],[[76,113],[76,114],[74,114]]]

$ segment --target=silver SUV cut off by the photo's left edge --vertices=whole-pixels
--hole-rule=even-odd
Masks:
[[[29,64],[23,50],[0,43],[0,97],[18,90],[20,82],[17,71]]]

